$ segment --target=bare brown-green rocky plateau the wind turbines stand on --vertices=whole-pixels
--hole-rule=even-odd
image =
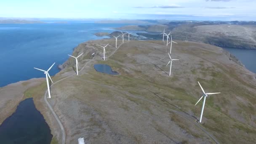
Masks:
[[[106,45],[106,61],[102,60]],[[162,41],[126,41],[117,49],[115,40],[95,40],[80,44],[61,72],[53,77],[49,99],[64,125],[67,144],[80,137],[86,144],[97,143],[247,143],[256,141],[256,74],[248,71],[222,48],[203,43],[177,41],[170,60]],[[96,53],[94,57],[92,53]],[[96,72],[93,64],[108,64],[120,75]],[[71,76],[72,75],[72,76]],[[71,76],[71,77],[69,77]],[[197,81],[208,96],[203,123],[197,123],[202,95]],[[2,90],[2,89],[1,89]],[[43,98],[44,84],[29,88],[25,96]],[[1,95],[2,96],[2,95]],[[60,141],[58,125],[51,114],[36,103]]]

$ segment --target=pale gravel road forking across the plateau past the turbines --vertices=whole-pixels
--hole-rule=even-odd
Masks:
[[[128,43],[128,42],[125,42],[125,43]],[[112,55],[120,48],[120,46],[121,46],[122,44],[123,44],[123,43],[121,43],[121,44],[115,49],[115,51],[113,51],[107,58],[109,58],[110,56],[112,56]],[[91,59],[90,61],[86,62],[85,65],[82,67],[82,69],[80,69],[80,71],[82,71],[82,70],[85,68],[85,66],[86,66],[89,62],[94,61],[94,60],[95,60],[95,59]],[[147,63],[147,64],[149,64],[149,63]],[[74,74],[72,74],[72,75],[70,75],[70,76],[68,76],[68,77],[64,77],[64,78],[62,78],[61,80],[56,81],[54,84],[51,85],[51,87],[53,87],[53,85],[55,85],[56,83],[58,83],[58,82],[60,82],[60,81],[62,81],[62,80],[65,80],[65,79],[67,79],[67,78],[69,78],[69,77],[72,77],[72,76],[74,76],[74,75],[76,75],[76,74],[74,73]],[[79,77],[74,77],[74,78],[80,79]],[[80,80],[83,80],[83,79],[80,79]],[[142,96],[136,96],[136,95],[133,95],[133,94],[131,94],[131,93],[128,93],[127,91],[121,91],[121,90],[119,90],[119,89],[117,89],[117,88],[115,88],[115,87],[109,86],[109,85],[103,85],[103,84],[96,83],[96,82],[92,82],[92,81],[89,81],[89,80],[84,80],[84,81],[89,82],[89,83],[94,83],[94,84],[97,84],[97,85],[101,85],[101,86],[103,86],[103,87],[110,88],[110,89],[112,89],[112,90],[114,90],[114,91],[118,91],[118,92],[120,92],[120,93],[124,93],[124,94],[127,95],[127,96],[131,96],[131,97],[134,97],[134,98],[137,98],[137,99],[141,99],[141,100],[147,101],[147,102],[149,102],[149,103],[151,103],[151,104],[154,104],[154,105],[156,105],[156,106],[158,106],[158,107],[162,107],[162,108],[165,109],[165,110],[171,111],[171,112],[173,112],[173,113],[175,113],[175,114],[177,114],[177,115],[179,115],[179,116],[185,118],[186,120],[192,122],[193,124],[195,124],[195,125],[196,125],[198,128],[200,128],[205,134],[207,134],[216,144],[219,144],[219,142],[218,142],[210,133],[208,133],[199,123],[195,122],[195,118],[194,118],[194,117],[191,117],[190,115],[187,115],[185,112],[181,112],[181,111],[176,111],[176,110],[170,109],[170,108],[165,107],[165,106],[163,106],[163,105],[157,104],[157,103],[155,103],[154,101],[150,101],[150,100],[148,100],[148,99],[145,99],[145,98],[143,98]],[[56,113],[54,112],[53,108],[51,107],[51,104],[50,104],[50,103],[48,102],[48,100],[47,100],[47,90],[45,91],[44,100],[45,100],[45,103],[47,104],[48,108],[49,108],[49,109],[51,110],[51,112],[53,113],[53,116],[55,117],[56,121],[58,122],[58,124],[59,124],[59,126],[60,126],[60,128],[61,128],[61,133],[62,133],[61,144],[65,144],[65,141],[66,141],[66,133],[65,133],[64,127],[63,127],[63,125],[62,125],[62,123],[61,123],[59,117],[56,115]]]

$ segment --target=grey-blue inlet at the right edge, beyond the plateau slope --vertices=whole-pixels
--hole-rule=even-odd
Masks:
[[[251,72],[256,73],[256,50],[240,48],[224,48],[239,59]]]

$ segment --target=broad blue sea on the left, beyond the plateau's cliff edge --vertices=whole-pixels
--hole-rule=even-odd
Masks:
[[[45,77],[43,72],[54,62],[49,74],[59,72],[57,66],[68,59],[73,48],[97,37],[96,32],[113,32],[112,28],[128,24],[95,24],[69,22],[67,24],[0,24],[0,87],[28,80],[34,77]],[[140,31],[129,31],[140,32]]]

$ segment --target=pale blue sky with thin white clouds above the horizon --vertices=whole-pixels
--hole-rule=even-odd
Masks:
[[[256,0],[0,0],[0,17],[256,21]]]

